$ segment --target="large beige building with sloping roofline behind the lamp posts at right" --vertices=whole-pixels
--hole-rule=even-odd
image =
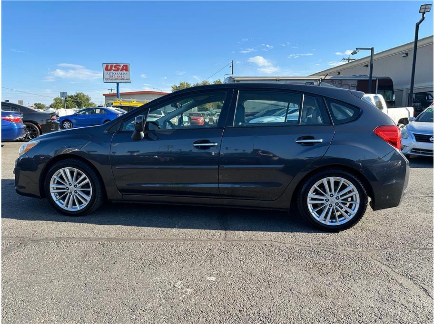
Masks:
[[[373,75],[390,77],[395,106],[407,106],[410,94],[414,42],[374,54]],[[370,56],[319,71],[312,76],[369,76]],[[433,100],[433,36],[418,40],[414,76],[414,107],[427,107]]]

